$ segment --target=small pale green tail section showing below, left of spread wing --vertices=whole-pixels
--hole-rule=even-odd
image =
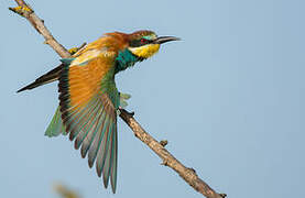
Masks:
[[[59,134],[66,135],[66,128],[62,120],[62,112],[59,110],[59,107],[57,107],[55,114],[53,116],[53,119],[51,123],[48,124],[45,133],[46,136],[58,136]]]

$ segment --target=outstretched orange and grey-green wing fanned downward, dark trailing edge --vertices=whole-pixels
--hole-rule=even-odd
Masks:
[[[86,53],[85,53],[86,54]],[[90,52],[65,65],[59,75],[59,108],[62,120],[80,148],[88,164],[96,162],[97,174],[102,174],[107,188],[109,178],[112,191],[117,183],[117,109],[119,92],[115,84],[115,65],[111,53]]]

